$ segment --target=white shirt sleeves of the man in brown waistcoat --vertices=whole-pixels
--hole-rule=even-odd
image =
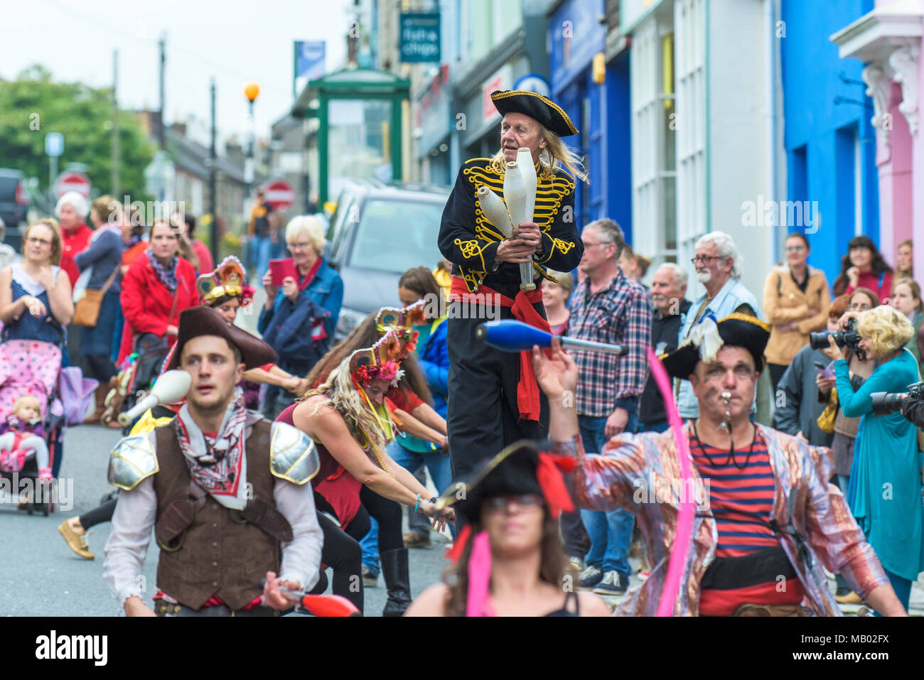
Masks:
[[[310,590],[318,582],[324,540],[314,508],[311,483],[308,481],[299,486],[275,479],[273,500],[292,526],[292,540],[283,543],[280,577],[284,581],[298,582],[303,590]],[[112,532],[103,548],[106,555],[103,579],[119,604],[125,604],[132,595],[143,599],[141,565],[151,543],[156,514],[157,494],[154,492],[153,476],[141,480],[130,492],[119,494]]]

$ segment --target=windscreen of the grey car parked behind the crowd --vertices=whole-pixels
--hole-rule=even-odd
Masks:
[[[442,201],[367,200],[353,239],[349,264],[382,272],[436,266]]]

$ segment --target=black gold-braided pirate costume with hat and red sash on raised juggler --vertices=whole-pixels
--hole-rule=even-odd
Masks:
[[[561,107],[539,94],[494,91],[491,96],[501,115],[529,115],[560,137],[577,134]],[[546,273],[547,267],[561,272],[574,269],[584,249],[574,218],[574,179],[544,160],[543,153],[536,168],[535,211],[528,220],[541,229],[541,246],[532,257],[534,282],[555,280]],[[499,443],[541,438],[548,421],[548,407],[536,384],[529,353],[517,360],[475,337],[476,328],[487,318],[517,319],[549,330],[541,286],[520,290],[520,266],[494,261],[504,236],[500,225],[492,225],[485,215],[477,191],[485,187],[504,198],[503,167],[489,158],[466,161],[440,225],[440,250],[453,262],[446,420],[456,477],[470,473],[484,452],[496,450]]]

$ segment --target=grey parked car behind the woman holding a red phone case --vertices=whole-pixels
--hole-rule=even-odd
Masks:
[[[373,310],[400,306],[398,279],[443,257],[437,246],[449,187],[350,183],[340,192],[325,255],[344,281],[341,340]]]

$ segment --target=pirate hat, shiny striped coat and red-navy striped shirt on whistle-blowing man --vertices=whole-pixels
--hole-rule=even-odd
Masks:
[[[723,346],[740,346],[760,371],[769,338],[770,327],[754,317],[736,313],[716,322],[710,315],[662,361],[668,375],[686,380],[699,361],[713,361]],[[723,427],[731,431],[730,417]],[[720,450],[700,441],[696,424],[687,423],[681,436],[692,456],[692,480],[681,474],[673,431],[619,435],[600,454],[585,454],[579,436],[557,444],[557,453],[577,455],[577,504],[623,507],[638,520],[653,566],[617,613],[657,611],[671,553],[683,549],[674,541],[687,494],[695,496],[696,516],[675,615],[839,616],[822,565],[863,597],[888,583],[843,495],[827,483],[830,450],[754,428],[751,441]]]

